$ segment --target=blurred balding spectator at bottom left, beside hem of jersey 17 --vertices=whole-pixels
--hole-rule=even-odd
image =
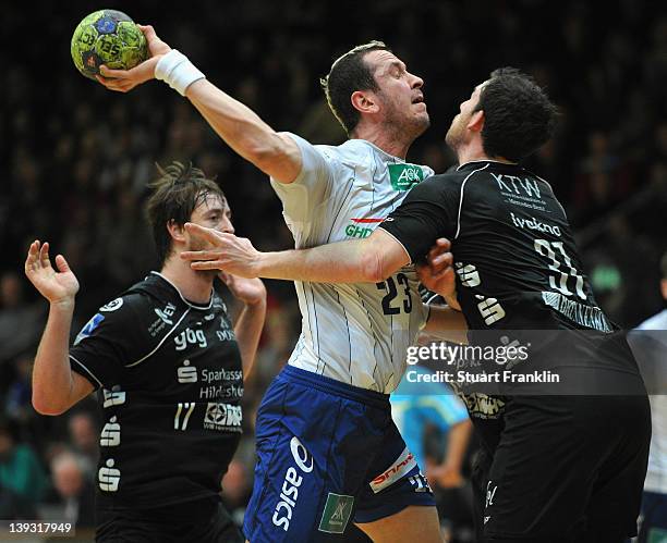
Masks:
[[[95,486],[86,469],[86,461],[70,452],[51,460],[53,488],[64,505],[62,521],[77,529],[95,527]]]

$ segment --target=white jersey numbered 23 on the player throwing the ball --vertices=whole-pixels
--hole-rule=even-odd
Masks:
[[[313,146],[290,134],[303,168],[271,185],[298,249],[364,238],[433,170],[387,155],[363,139]],[[383,283],[294,282],[302,332],[288,363],[385,394],[405,370],[405,349],[426,320],[414,267]]]

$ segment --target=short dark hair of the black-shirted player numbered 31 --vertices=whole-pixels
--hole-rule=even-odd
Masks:
[[[558,109],[535,81],[514,67],[490,74],[475,111],[484,111],[482,143],[489,157],[518,162],[544,143],[556,127]]]

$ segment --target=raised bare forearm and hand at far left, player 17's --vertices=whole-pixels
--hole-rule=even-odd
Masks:
[[[25,261],[25,274],[49,300],[33,369],[33,407],[41,415],[60,415],[90,394],[90,382],[72,371],[69,360],[70,329],[78,281],[62,255],[56,257],[58,271],[49,259],[49,244],[34,242]]]

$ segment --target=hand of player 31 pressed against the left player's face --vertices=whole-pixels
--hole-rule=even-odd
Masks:
[[[223,270],[239,277],[257,277],[259,251],[250,239],[218,232],[191,222],[185,223],[190,235],[211,245],[205,250],[181,252],[193,270]]]

